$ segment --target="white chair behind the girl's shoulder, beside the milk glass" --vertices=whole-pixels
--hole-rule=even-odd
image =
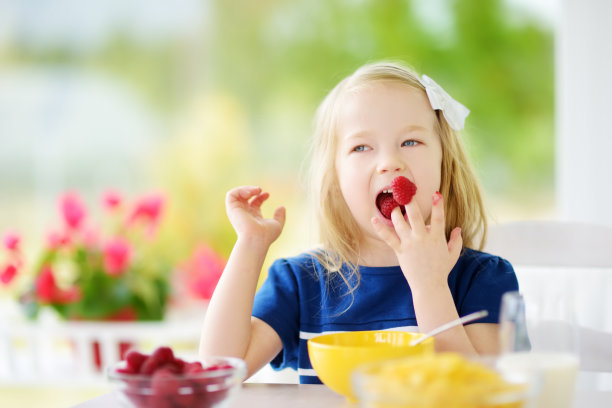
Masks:
[[[520,221],[489,228],[485,251],[512,263],[529,299],[573,298],[580,328],[579,386],[612,389],[612,226]]]

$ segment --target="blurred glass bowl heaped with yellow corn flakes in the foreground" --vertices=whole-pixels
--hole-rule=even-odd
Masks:
[[[360,408],[526,408],[536,381],[504,372],[495,357],[436,353],[358,367]]]

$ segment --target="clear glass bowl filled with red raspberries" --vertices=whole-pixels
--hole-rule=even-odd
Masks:
[[[234,357],[185,361],[170,347],[129,351],[107,375],[126,408],[221,408],[240,388],[246,364]]]

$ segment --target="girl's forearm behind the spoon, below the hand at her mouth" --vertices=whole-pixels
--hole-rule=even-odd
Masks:
[[[448,286],[429,290],[413,290],[414,310],[419,330],[429,332],[444,323],[459,317]],[[463,354],[477,354],[464,326],[459,325],[435,337],[436,351],[456,351]]]

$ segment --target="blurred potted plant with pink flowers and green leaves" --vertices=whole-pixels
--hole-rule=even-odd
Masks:
[[[51,308],[66,320],[161,320],[172,272],[155,246],[164,207],[160,194],[128,202],[107,192],[95,221],[80,195],[66,193],[59,200],[60,222],[34,262],[25,261],[18,234],[5,236],[0,282],[8,286],[27,275],[18,297],[30,319]],[[100,367],[99,345],[93,346]],[[125,344],[120,347],[125,351]]]

